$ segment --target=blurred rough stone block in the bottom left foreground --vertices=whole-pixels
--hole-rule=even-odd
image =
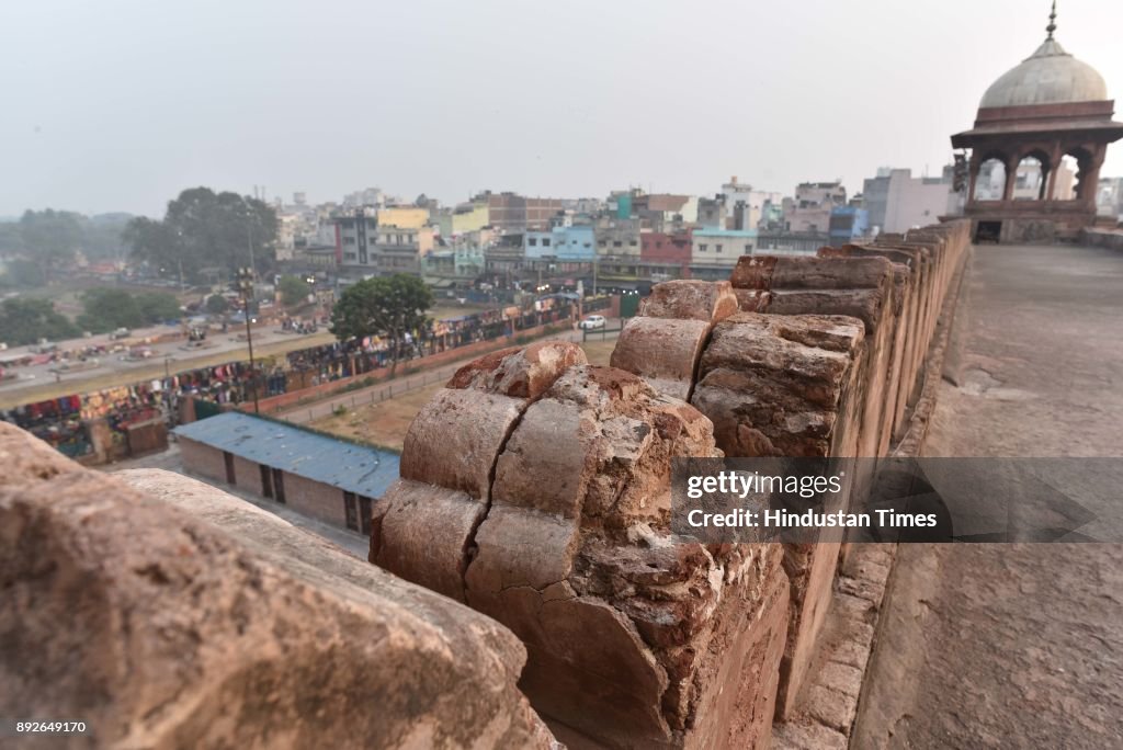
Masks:
[[[489,618],[182,475],[6,423],[0,461],[3,715],[91,748],[556,747]]]

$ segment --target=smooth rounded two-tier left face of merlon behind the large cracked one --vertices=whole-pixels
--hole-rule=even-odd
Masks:
[[[729,282],[656,284],[620,332],[611,364],[643,376],[659,393],[690,399],[710,329],[737,310]]]

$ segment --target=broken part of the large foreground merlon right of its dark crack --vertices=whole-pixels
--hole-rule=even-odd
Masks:
[[[714,455],[695,409],[582,365],[527,409],[496,463],[467,602],[519,635],[532,704],[581,743],[767,743],[783,551],[669,532],[670,460]]]

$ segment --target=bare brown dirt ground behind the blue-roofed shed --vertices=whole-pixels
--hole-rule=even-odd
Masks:
[[[590,363],[608,365],[614,346],[615,340],[609,339],[606,341],[586,341],[582,348],[585,349]],[[340,414],[309,422],[308,426],[382,448],[401,450],[405,430],[409,429],[413,417],[441,388],[441,383],[435,383],[382,403],[368,403],[355,409],[347,409]]]

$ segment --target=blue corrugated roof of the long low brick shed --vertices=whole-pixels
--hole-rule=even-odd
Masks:
[[[247,460],[330,484],[367,497],[382,497],[398,478],[399,457],[298,427],[226,412],[174,432]]]

